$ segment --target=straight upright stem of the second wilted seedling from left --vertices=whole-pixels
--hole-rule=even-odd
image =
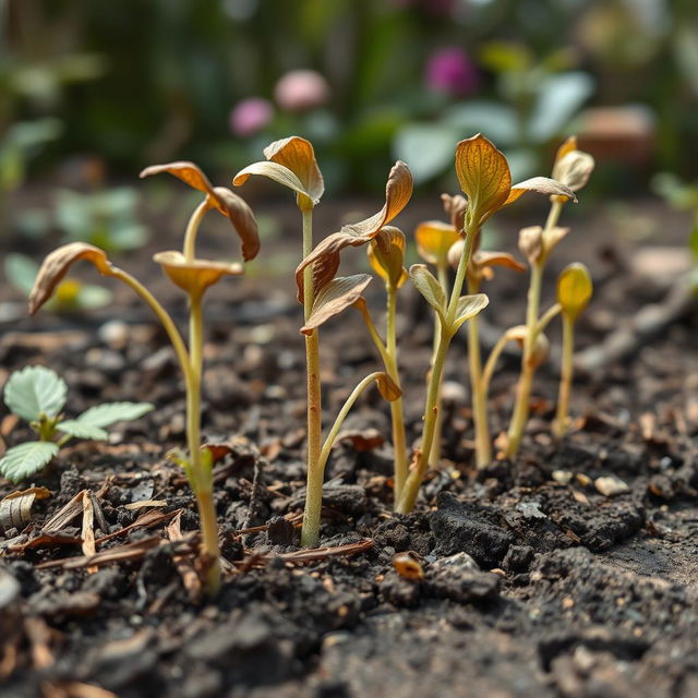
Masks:
[[[313,249],[313,209],[303,214],[303,256]],[[312,265],[303,273],[303,311],[308,320],[313,310]],[[314,546],[320,539],[320,516],[323,506],[324,467],[320,464],[322,440],[322,390],[320,383],[320,341],[317,329],[305,336],[305,368],[308,377],[308,486],[301,544]]]

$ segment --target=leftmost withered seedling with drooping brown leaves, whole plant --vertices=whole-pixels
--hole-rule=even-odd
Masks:
[[[260,251],[257,226],[248,204],[229,189],[213,186],[208,178],[193,163],[170,163],[148,167],[141,177],[160,172],[182,180],[204,194],[204,201],[192,214],[182,252],[159,252],[154,260],[168,278],[189,297],[189,347],[169,313],[157,299],[133,276],[116,267],[104,250],[85,242],[72,242],[51,252],[39,269],[29,296],[29,313],[36,313],[51,298],[71,265],[80,260],[91,262],[104,276],[109,276],[131,287],[153,310],[167,333],[184,374],[186,387],[186,442],[189,453],[174,454],[173,459],[186,472],[196,496],[202,531],[202,567],[209,594],[220,587],[220,554],[218,527],[213,497],[213,456],[201,443],[201,381],[203,369],[203,313],[202,301],[206,289],[224,276],[239,276],[243,267],[239,263],[212,262],[196,257],[196,236],[201,222],[210,209],[226,216],[242,241],[242,257],[246,262]]]

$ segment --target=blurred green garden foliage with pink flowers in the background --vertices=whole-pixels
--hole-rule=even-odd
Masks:
[[[606,194],[697,176],[695,0],[0,0],[0,195],[171,159],[225,181],[290,133],[335,192],[380,191],[396,157],[449,185],[477,131],[518,178],[571,132]],[[139,239],[128,193],[67,198]]]

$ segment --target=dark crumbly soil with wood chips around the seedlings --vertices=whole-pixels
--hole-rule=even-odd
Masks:
[[[352,202],[344,210],[370,207]],[[683,243],[685,220],[650,202],[636,210],[663,244]],[[544,215],[529,213],[533,220]],[[328,464],[324,550],[308,554],[298,546],[304,359],[289,242],[298,230],[292,208],[273,214],[282,224],[265,240],[262,255],[266,249],[272,256],[250,278],[219,285],[206,306],[203,423],[206,438],[221,445],[216,506],[227,568],[215,602],[202,597],[192,566],[193,497],[165,458],[184,442],[182,382],[147,310],[119,289],[110,309],[83,317],[39,314],[3,324],[3,377],[27,363],[51,366],[70,385],[71,414],[118,399],[147,399],[157,409],[120,425],[109,443],[65,448],[35,482],[0,481],[0,496],[33,484],[48,495],[37,496],[28,522],[0,537],[0,696],[698,695],[698,314],[627,361],[578,374],[575,429],[562,442],[550,435],[554,350],[537,376],[519,457],[481,472],[471,466],[465,339],[456,340],[444,389],[443,467],[429,474],[410,516],[390,510],[389,444],[362,438],[389,434],[388,410],[369,392]],[[411,230],[421,217],[440,217],[437,204],[418,206],[398,225]],[[317,229],[330,231],[338,219],[339,208],[329,207]],[[595,296],[577,337],[583,349],[661,300],[671,279],[635,270],[639,242],[603,212],[570,219],[545,298],[567,262],[592,268]],[[163,231],[166,222],[155,220]],[[505,241],[518,222],[505,218],[500,228]],[[166,232],[158,238],[153,250],[176,244]],[[203,234],[201,246],[216,255],[229,241]],[[165,294],[183,321],[182,297],[148,252],[120,264]],[[345,268],[362,267],[362,255],[347,252]],[[372,286],[380,317],[384,301]],[[522,276],[502,270],[484,289],[492,298],[485,344],[495,327],[521,322],[525,287]],[[5,288],[0,300],[3,316],[12,316],[19,297]],[[414,442],[431,320],[407,287],[399,312]],[[376,357],[352,311],[323,327],[321,346],[329,423],[357,380],[376,369]],[[495,435],[507,424],[517,363],[506,353],[493,381]],[[0,433],[8,445],[28,435],[10,417]],[[610,494],[598,478],[612,478],[621,491]],[[58,512],[68,514],[57,522]],[[84,555],[91,534],[97,553]],[[410,557],[396,559],[398,553]]]

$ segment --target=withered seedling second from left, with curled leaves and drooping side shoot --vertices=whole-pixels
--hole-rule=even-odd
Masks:
[[[365,274],[337,277],[339,252],[346,246],[369,243],[406,206],[412,193],[412,178],[404,163],[397,163],[388,177],[385,206],[370,218],[345,226],[313,249],[312,216],[324,193],[323,177],[309,141],[290,136],[272,143],[264,151],[266,161],[254,163],[242,169],[233,184],[243,184],[251,174],[262,174],[296,192],[296,201],[303,219],[303,260],[296,270],[298,300],[303,304],[308,374],[308,489],[301,543],[315,545],[320,538],[323,479],[329,449],[339,426],[361,392],[374,381],[383,396],[393,400],[400,390],[387,373],[366,376],[349,396],[329,434],[322,442],[322,386],[320,381],[320,348],[317,328],[360,301],[361,293],[371,281]]]

